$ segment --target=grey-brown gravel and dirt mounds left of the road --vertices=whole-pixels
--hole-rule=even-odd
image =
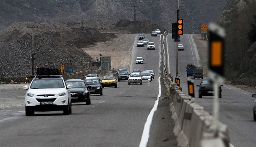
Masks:
[[[99,23],[95,26],[93,24],[95,22],[87,22],[81,29],[79,23],[68,23],[67,26],[13,23],[0,33],[0,76],[26,77],[29,75],[29,53],[33,29],[27,27],[37,26],[34,28],[35,68],[38,66],[60,67],[61,64],[72,62],[74,72],[90,70],[90,66],[95,62],[80,48],[96,42],[110,41],[117,37],[116,34],[148,32],[159,28],[158,24],[150,20],[136,22],[120,20],[116,25]]]

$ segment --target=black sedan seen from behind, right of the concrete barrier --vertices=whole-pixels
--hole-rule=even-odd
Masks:
[[[214,95],[214,84],[210,80],[203,80],[200,85],[196,85],[199,87],[198,89],[198,97],[202,98],[202,96],[213,96]],[[218,85],[218,93],[219,98],[221,98],[221,86]]]

